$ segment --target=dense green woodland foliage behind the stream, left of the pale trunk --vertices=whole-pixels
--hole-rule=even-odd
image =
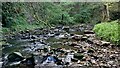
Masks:
[[[101,5],[103,3],[5,2],[2,3],[2,24],[9,30],[18,31],[59,24],[93,23],[101,21]]]

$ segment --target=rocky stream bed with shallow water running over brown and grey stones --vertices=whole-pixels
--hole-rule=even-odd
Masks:
[[[105,66],[119,68],[120,47],[98,39],[92,28],[93,26],[81,24],[26,30],[12,36],[4,35],[5,39],[3,41],[6,43],[2,45],[3,68],[30,68],[30,66],[21,63],[18,65],[5,64],[6,56],[12,52],[20,52],[25,58],[33,54],[35,68],[41,66]],[[43,65],[41,63],[43,56],[50,52],[61,59],[63,64]],[[69,64],[64,61],[67,53],[74,56]]]

